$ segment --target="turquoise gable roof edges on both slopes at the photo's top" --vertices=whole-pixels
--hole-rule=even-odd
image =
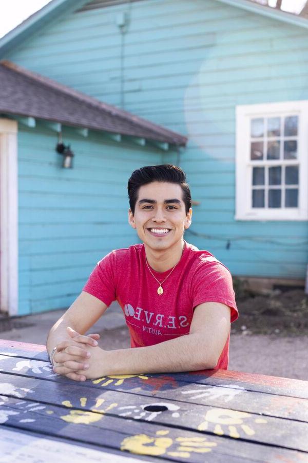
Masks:
[[[271,17],[276,21],[308,29],[308,21],[305,17],[276,10],[275,8],[269,8],[267,6],[254,3],[251,0],[215,1],[235,8],[241,8],[252,13],[260,14],[262,16]],[[38,10],[36,13],[29,16],[28,19],[23,21],[20,25],[12,29],[2,39],[0,39],[0,56],[4,56],[8,50],[20,44],[34,32],[44,27],[47,23],[56,21],[57,17],[60,15],[76,11],[86,4],[89,4],[89,6],[93,4],[92,7],[95,7],[95,4],[103,3],[106,3],[106,6],[112,4],[110,0],[102,0],[100,2],[89,2],[89,0],[51,0],[51,2],[41,8],[41,10]],[[127,0],[117,0],[117,4],[120,3],[127,3]]]

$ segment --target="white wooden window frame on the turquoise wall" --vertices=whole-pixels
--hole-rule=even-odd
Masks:
[[[297,208],[253,208],[250,159],[251,119],[298,115],[299,195]],[[279,160],[266,161],[275,166]],[[292,162],[290,161],[290,164]],[[256,167],[260,166],[256,162]],[[236,220],[308,220],[308,100],[249,104],[236,107]]]

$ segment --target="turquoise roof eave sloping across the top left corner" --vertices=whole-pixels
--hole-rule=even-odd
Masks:
[[[0,39],[0,56],[4,56],[11,48],[26,40],[41,29],[44,24],[55,21],[61,14],[68,14],[87,3],[88,0],[51,0],[40,10],[8,32]]]

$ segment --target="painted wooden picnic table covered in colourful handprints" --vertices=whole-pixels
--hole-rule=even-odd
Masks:
[[[56,375],[0,340],[0,461],[308,461],[308,381],[238,371]]]

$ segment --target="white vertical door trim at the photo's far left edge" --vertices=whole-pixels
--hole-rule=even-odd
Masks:
[[[0,118],[0,308],[18,313],[17,122]]]

